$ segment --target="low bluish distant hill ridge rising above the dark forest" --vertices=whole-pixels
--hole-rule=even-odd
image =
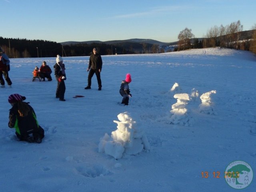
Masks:
[[[169,45],[171,43],[160,42],[153,39],[128,39],[128,40],[113,40],[113,41],[66,41],[61,42],[62,45],[72,45],[72,44],[92,44],[92,43],[104,43],[104,44],[123,44],[123,43],[146,43],[146,44],[158,44],[158,45]]]

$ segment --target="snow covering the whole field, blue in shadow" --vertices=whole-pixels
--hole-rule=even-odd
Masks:
[[[66,102],[55,98],[55,78],[32,82],[34,67],[45,60],[53,70],[55,58],[10,59],[12,88],[0,88],[1,191],[234,191],[224,179],[230,162],[245,161],[256,174],[251,52],[102,56],[101,91],[95,76],[92,89],[84,90],[89,57],[63,59]],[[127,73],[132,97],[122,106],[119,88]],[[14,93],[34,108],[45,130],[41,144],[19,142],[8,128]],[[254,176],[246,191],[255,188]]]

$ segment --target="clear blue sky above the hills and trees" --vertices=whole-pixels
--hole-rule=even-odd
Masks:
[[[4,38],[54,42],[196,38],[213,26],[256,24],[255,0],[0,0]],[[254,19],[253,19],[254,18]]]

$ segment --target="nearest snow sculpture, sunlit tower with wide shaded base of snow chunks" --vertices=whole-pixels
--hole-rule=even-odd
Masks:
[[[119,121],[114,120],[117,123],[117,130],[112,132],[111,138],[108,134],[100,138],[99,152],[105,152],[115,159],[120,159],[123,153],[135,155],[141,152],[143,148],[150,150],[144,130],[136,126],[130,113],[120,113],[117,117]]]

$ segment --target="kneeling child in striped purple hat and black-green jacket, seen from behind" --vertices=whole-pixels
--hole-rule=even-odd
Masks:
[[[41,143],[44,138],[44,129],[38,124],[34,109],[29,103],[23,102],[25,99],[26,97],[19,94],[8,97],[8,102],[12,105],[8,126],[16,129],[15,134],[20,141]]]

